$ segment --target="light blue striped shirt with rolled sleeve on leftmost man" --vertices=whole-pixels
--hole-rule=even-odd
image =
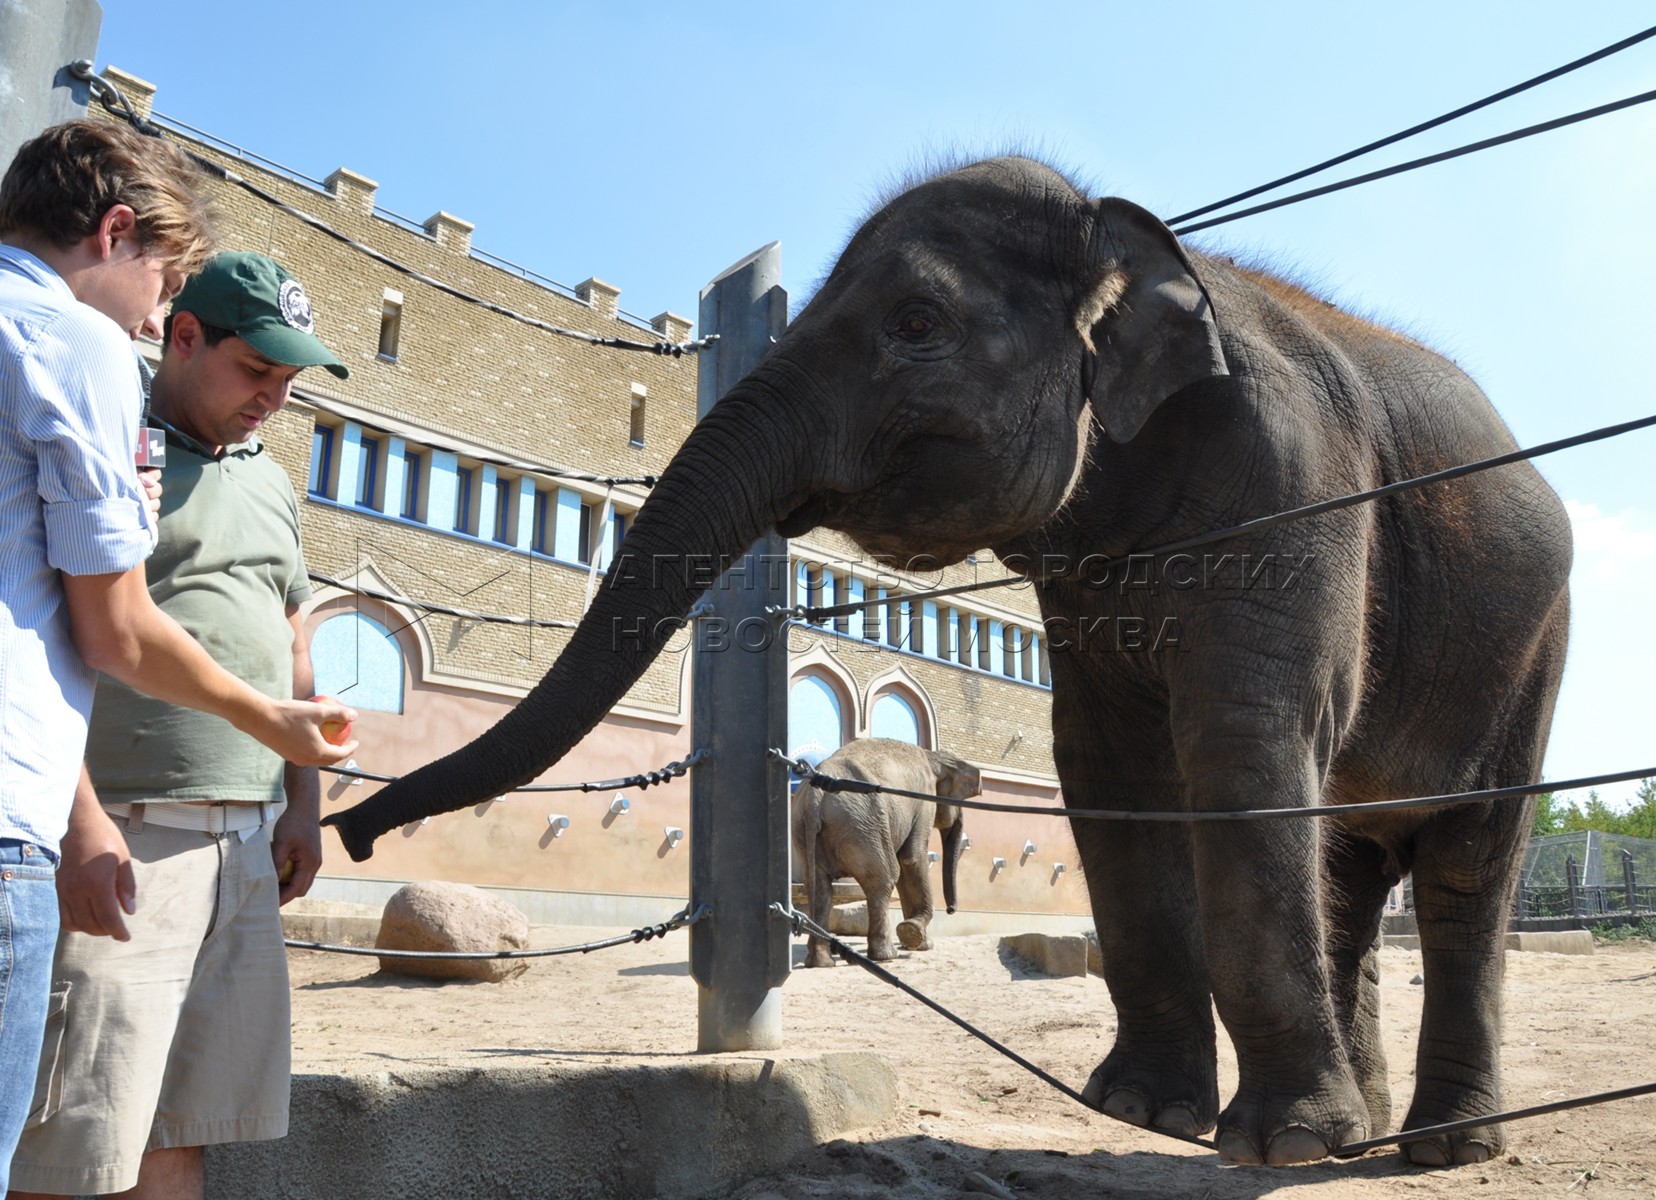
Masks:
[[[94,680],[58,573],[129,571],[154,546],[137,417],[131,339],[40,258],[0,245],[0,838],[53,854]]]

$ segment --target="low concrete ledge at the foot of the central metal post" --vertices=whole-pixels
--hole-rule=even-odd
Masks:
[[[866,1053],[296,1074],[288,1135],[207,1147],[207,1197],[724,1195],[896,1107]]]

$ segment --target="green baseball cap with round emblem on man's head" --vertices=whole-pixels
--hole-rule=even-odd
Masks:
[[[310,296],[300,281],[265,255],[230,250],[214,255],[172,300],[174,313],[229,329],[272,362],[351,371],[316,338]]]

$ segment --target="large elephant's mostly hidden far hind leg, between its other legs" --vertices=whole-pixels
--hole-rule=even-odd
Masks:
[[[1368,1102],[1368,1134],[1391,1130],[1391,1086],[1379,1031],[1379,942],[1386,894],[1398,881],[1389,857],[1366,838],[1323,826],[1328,879],[1328,975],[1346,1059]]]

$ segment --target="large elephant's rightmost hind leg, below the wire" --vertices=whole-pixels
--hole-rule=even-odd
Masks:
[[[1452,809],[1416,842],[1414,915],[1426,998],[1404,1129],[1500,1112],[1502,935],[1532,806],[1485,808]],[[1504,1149],[1505,1132],[1494,1124],[1408,1142],[1403,1154],[1426,1167],[1447,1167],[1485,1162]]]

